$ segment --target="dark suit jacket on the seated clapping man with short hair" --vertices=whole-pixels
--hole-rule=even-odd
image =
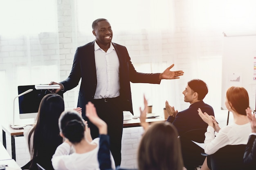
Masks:
[[[214,116],[213,108],[201,100],[190,105],[188,109],[178,112],[175,118],[169,116],[166,121],[173,123],[179,135],[192,129],[207,129],[207,123],[198,115],[198,108],[200,108],[203,113],[206,112]]]

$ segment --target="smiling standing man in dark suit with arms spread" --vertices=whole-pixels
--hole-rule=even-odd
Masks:
[[[140,73],[135,70],[125,46],[113,43],[110,23],[99,18],[92,23],[95,40],[78,47],[70,75],[59,84],[61,89],[54,93],[76,87],[81,78],[78,106],[82,116],[88,121],[92,138],[99,136],[99,131],[87,117],[85,105],[90,101],[97,109],[98,116],[108,124],[110,150],[116,166],[121,163],[121,139],[123,132],[123,111],[132,111],[130,82],[159,84],[162,79],[176,79],[183,71],[170,71],[174,64],[162,73]]]

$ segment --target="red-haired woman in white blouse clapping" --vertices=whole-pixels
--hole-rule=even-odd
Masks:
[[[226,93],[225,105],[233,113],[234,123],[222,129],[220,129],[213,116],[209,116],[206,112],[202,113],[201,109],[198,109],[198,114],[208,124],[204,139],[204,152],[208,155],[215,153],[226,145],[247,144],[251,127],[245,111],[249,107],[249,96],[246,89],[243,87],[229,87]],[[215,132],[218,132],[216,137]],[[207,169],[209,168],[206,158],[201,170]]]

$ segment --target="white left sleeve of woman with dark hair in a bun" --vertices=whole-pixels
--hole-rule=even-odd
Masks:
[[[63,142],[56,148],[54,155],[52,155],[52,166],[54,170],[67,170],[65,159],[68,159],[70,148],[67,142]]]

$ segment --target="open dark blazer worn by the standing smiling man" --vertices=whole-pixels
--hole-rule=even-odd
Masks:
[[[159,84],[159,73],[146,74],[135,70],[130,61],[130,56],[125,46],[112,43],[119,58],[119,82],[121,107],[124,111],[132,111],[132,98],[130,82]],[[97,87],[96,66],[94,58],[94,41],[78,47],[74,55],[74,61],[70,75],[60,83],[64,86],[64,92],[76,87],[81,79],[78,107],[82,108],[82,116],[85,116],[85,105],[92,101]]]

